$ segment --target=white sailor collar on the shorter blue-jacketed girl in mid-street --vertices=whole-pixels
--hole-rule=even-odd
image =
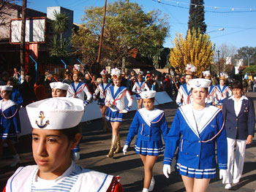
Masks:
[[[156,120],[157,118],[161,118],[159,117],[160,115],[162,115],[162,113],[164,111],[162,110],[158,110],[157,108],[154,108],[154,110],[151,111],[150,117],[148,117],[147,113],[148,110],[146,110],[146,108],[142,108],[140,110],[138,110],[138,112],[140,113],[141,118],[143,118],[143,120],[145,121],[145,123],[148,126],[151,126],[151,123],[154,123],[154,120]],[[158,120],[158,119],[157,119]]]

